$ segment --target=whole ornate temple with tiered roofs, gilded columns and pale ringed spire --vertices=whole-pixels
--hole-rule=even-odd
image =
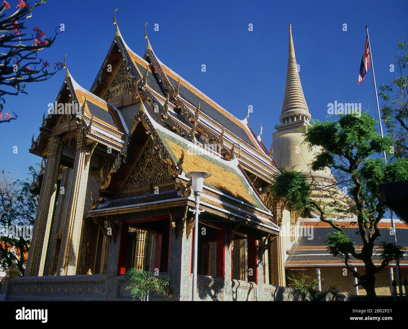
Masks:
[[[304,262],[324,240],[304,238],[304,222],[320,230],[317,217],[274,197],[273,177],[287,165],[336,184],[329,169],[308,167],[313,152],[302,136],[311,115],[291,26],[284,104],[268,150],[248,123],[249,110],[238,119],[158,59],[146,26],[141,57],[115,16],[113,24],[114,40],[89,90],[64,62],[55,104],[80,114],[44,115],[32,140],[30,152],[43,159],[33,184],[40,202],[26,276],[6,282],[6,298],[128,300],[125,274],[136,267],[168,280],[171,300],[191,300],[194,196],[186,173],[193,171],[211,174],[200,197],[199,298],[292,298],[286,274],[317,268],[321,262]],[[352,294],[348,278],[344,291]]]

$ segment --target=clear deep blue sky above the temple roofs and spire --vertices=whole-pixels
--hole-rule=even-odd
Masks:
[[[16,1],[10,0],[15,7]],[[29,1],[30,2],[30,1]],[[403,1],[53,1],[30,19],[50,35],[65,24],[51,49],[40,53],[50,63],[63,60],[74,79],[89,89],[113,41],[113,11],[126,43],[140,56],[146,48],[144,23],[157,57],[236,117],[254,113],[249,122],[270,146],[278,124],[286,82],[288,23],[292,24],[297,63],[313,119],[324,119],[327,104],[361,103],[375,116],[371,69],[357,85],[361,56],[370,31],[377,86],[390,82],[390,56],[408,32],[408,2]],[[159,31],[153,31],[154,24]],[[253,24],[253,32],[248,24]],[[346,32],[342,31],[347,24]],[[206,72],[201,65],[206,64]],[[18,119],[0,124],[0,167],[19,172],[40,158],[29,154],[31,135],[38,136],[42,114],[64,80],[59,72],[47,82],[27,85],[29,95],[7,97],[5,110]],[[18,146],[18,153],[13,153]]]

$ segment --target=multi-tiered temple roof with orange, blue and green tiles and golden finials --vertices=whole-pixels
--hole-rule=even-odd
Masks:
[[[95,191],[90,214],[126,212],[146,203],[158,208],[168,202],[191,203],[185,173],[204,170],[211,177],[202,202],[214,214],[222,212],[226,218],[276,234],[279,228],[254,183],[270,183],[279,170],[248,117],[236,118],[160,62],[146,30],[148,46],[142,58],[127,46],[115,19],[114,24],[114,41],[91,90],[75,82],[67,69],[57,98],[79,104],[78,121],[87,136],[98,141],[98,148],[111,147],[116,155],[108,170],[101,172],[102,184]],[[56,120],[52,115],[44,117],[31,152],[41,154],[51,127],[60,124]],[[150,144],[160,161],[173,168],[174,185],[166,185],[160,194],[153,193],[152,187],[131,194],[126,182]]]

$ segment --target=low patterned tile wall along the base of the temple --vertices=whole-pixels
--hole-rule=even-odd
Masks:
[[[226,287],[221,278],[211,276],[198,277],[198,294],[200,300],[217,301],[289,301],[300,300],[297,291],[291,287],[262,285],[233,280]],[[106,291],[105,275],[49,276],[12,278],[9,281],[5,300],[131,300],[126,289],[124,276],[115,280],[115,291]],[[225,289],[231,289],[232,294],[225,294]],[[228,296],[228,297],[224,297]],[[388,297],[388,296],[381,296]],[[364,296],[323,294],[322,300],[362,300]],[[149,296],[149,300],[163,300],[161,296]],[[172,296],[166,300],[190,300],[189,296]]]

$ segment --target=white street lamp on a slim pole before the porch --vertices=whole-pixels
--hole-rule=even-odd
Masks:
[[[192,300],[197,300],[197,253],[198,253],[198,215],[204,210],[198,209],[200,205],[200,195],[203,191],[204,178],[210,177],[211,174],[203,171],[193,171],[186,174],[187,178],[191,178],[193,193],[195,196],[194,209],[189,209],[195,214],[194,220],[194,254],[193,254],[193,296]]]

